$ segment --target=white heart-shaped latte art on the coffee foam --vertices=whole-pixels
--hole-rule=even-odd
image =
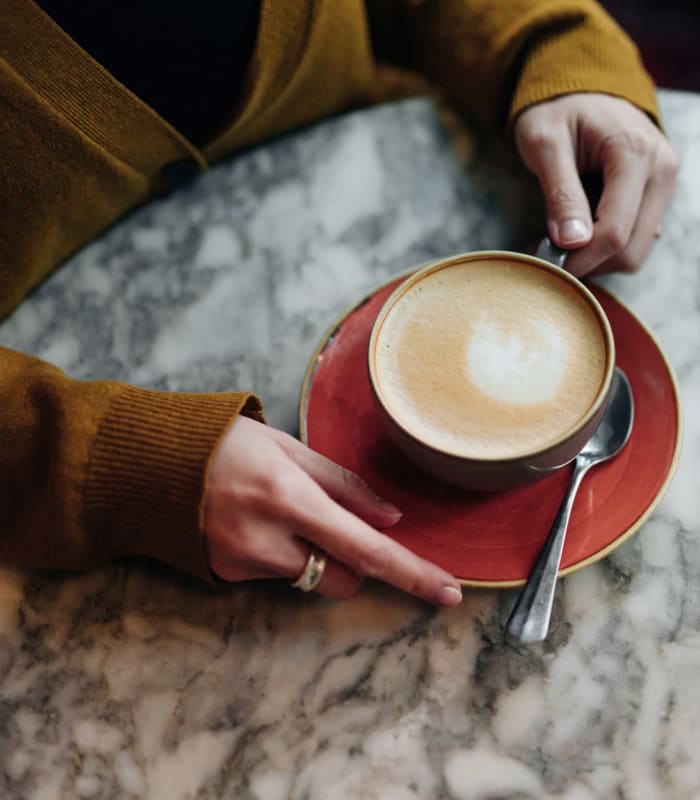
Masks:
[[[535,320],[506,334],[484,319],[466,345],[467,379],[494,400],[514,405],[551,401],[566,371],[568,349],[556,326]]]

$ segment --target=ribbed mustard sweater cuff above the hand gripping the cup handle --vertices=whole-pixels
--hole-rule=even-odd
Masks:
[[[534,103],[574,92],[623,97],[660,125],[654,84],[636,46],[602,15],[560,25],[531,43],[513,94],[510,122]]]

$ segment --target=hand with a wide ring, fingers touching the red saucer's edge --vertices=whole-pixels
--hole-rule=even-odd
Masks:
[[[370,577],[430,603],[461,600],[449,573],[376,530],[395,525],[398,509],[354,473],[246,417],[212,455],[205,502],[209,561],[224,580],[294,580],[314,546],[328,554],[316,591],[329,597],[349,597]]]

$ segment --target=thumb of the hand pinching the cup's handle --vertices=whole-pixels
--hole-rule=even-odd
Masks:
[[[518,144],[523,161],[542,188],[551,239],[564,249],[588,244],[593,236],[591,209],[566,128],[546,142],[522,137]]]

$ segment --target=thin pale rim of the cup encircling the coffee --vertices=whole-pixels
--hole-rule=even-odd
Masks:
[[[567,428],[556,439],[549,441],[544,447],[539,447],[535,450],[528,450],[526,452],[519,453],[518,455],[514,456],[477,457],[477,456],[465,455],[464,453],[458,453],[446,448],[441,448],[433,444],[430,444],[429,442],[426,442],[424,439],[418,437],[412,431],[408,430],[396,418],[396,415],[393,414],[388,408],[379,390],[379,380],[376,374],[376,351],[377,351],[376,345],[381,332],[382,325],[384,324],[384,321],[386,320],[386,317],[388,316],[391,309],[396,305],[396,303],[401,299],[401,297],[403,297],[403,295],[406,294],[406,292],[408,292],[417,283],[422,281],[427,275],[433,274],[434,272],[439,272],[443,269],[447,269],[456,264],[467,263],[469,261],[488,260],[494,258],[499,258],[499,259],[505,258],[510,261],[530,264],[531,266],[543,269],[546,272],[555,275],[560,280],[563,280],[565,283],[568,283],[569,286],[571,286],[573,290],[588,303],[588,305],[591,307],[595,315],[596,320],[600,325],[601,331],[603,333],[603,339],[605,342],[606,364],[605,364],[605,372],[603,375],[603,380],[601,381],[601,385],[598,389],[598,392],[595,395],[594,401],[591,403],[586,413],[582,417],[579,417],[574,425]],[[515,465],[522,463],[523,461],[526,460],[546,457],[548,454],[556,451],[558,448],[562,447],[562,445],[566,444],[572,438],[574,438],[576,434],[579,433],[581,430],[583,430],[590,423],[590,421],[596,416],[596,414],[599,413],[601,406],[607,400],[607,396],[609,394],[610,386],[612,383],[613,374],[615,371],[615,339],[607,315],[605,314],[603,307],[600,305],[600,303],[595,298],[593,293],[581,280],[572,275],[570,272],[567,272],[563,267],[560,267],[557,264],[553,264],[550,261],[546,261],[545,259],[539,258],[538,256],[530,255],[529,253],[520,253],[511,250],[473,250],[464,253],[457,253],[452,256],[447,256],[446,258],[439,258],[430,261],[428,263],[424,263],[423,266],[411,272],[408,275],[408,277],[406,277],[396,287],[396,289],[394,289],[394,291],[384,301],[384,304],[379,309],[379,313],[377,314],[377,317],[372,324],[372,330],[370,333],[370,339],[367,348],[367,360],[368,360],[369,379],[370,379],[370,385],[372,387],[372,392],[374,394],[375,399],[381,406],[382,412],[386,414],[388,419],[391,420],[392,424],[396,425],[401,430],[403,435],[407,436],[418,447],[423,448],[426,451],[432,452],[441,458],[453,459],[455,462],[459,463],[470,463],[474,465],[479,465],[479,464]],[[568,460],[570,461],[571,459]],[[564,466],[565,463],[567,463],[567,461],[564,461],[560,466]]]

